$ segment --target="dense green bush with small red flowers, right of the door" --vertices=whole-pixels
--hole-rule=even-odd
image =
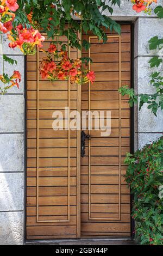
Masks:
[[[132,216],[141,245],[163,245],[163,137],[127,154],[126,181],[134,194]]]

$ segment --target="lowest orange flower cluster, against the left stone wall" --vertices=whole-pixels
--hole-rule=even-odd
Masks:
[[[8,89],[10,89],[13,86],[17,86],[19,88],[18,82],[21,82],[21,74],[19,71],[14,71],[13,75],[8,77],[7,74],[0,75],[0,81],[4,84],[9,84],[9,86],[5,86],[4,88],[0,87],[1,94],[5,94]]]

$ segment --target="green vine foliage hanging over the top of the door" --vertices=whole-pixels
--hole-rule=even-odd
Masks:
[[[109,1],[111,5],[118,4],[120,0]],[[107,40],[106,33],[103,28],[114,29],[118,34],[121,33],[121,26],[113,21],[110,17],[102,14],[104,10],[109,10],[112,14],[112,7],[105,4],[102,0],[17,0],[20,8],[16,11],[15,26],[18,24],[29,25],[27,15],[33,11],[33,25],[41,27],[43,32],[47,33],[48,38],[56,38],[57,36],[67,36],[70,46],[81,48],[80,39],[77,32],[91,31],[104,42]],[[81,21],[73,19],[76,15]],[[68,24],[66,27],[65,25]],[[83,47],[87,50],[90,47],[89,42],[83,41]]]

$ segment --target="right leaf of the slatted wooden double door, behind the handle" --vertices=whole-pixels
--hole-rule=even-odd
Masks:
[[[82,111],[104,111],[104,119],[110,111],[111,134],[86,131],[91,140],[81,160],[82,237],[130,236],[130,192],[123,177],[124,156],[130,151],[130,109],[118,93],[123,84],[130,86],[130,26],[122,26],[121,36],[107,35],[106,44],[83,35],[91,47],[82,55],[92,59],[96,82],[82,86]]]

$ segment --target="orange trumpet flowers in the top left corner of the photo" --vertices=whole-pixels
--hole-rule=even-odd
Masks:
[[[12,11],[18,9],[17,0],[0,0],[0,31],[7,33],[11,31],[12,21],[15,14]]]

